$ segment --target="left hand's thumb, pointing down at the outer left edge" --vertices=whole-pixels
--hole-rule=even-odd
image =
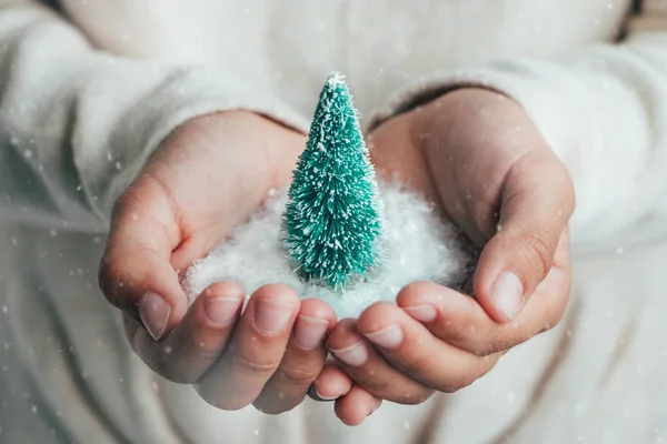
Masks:
[[[141,320],[162,339],[188,311],[188,300],[170,264],[179,230],[168,193],[150,175],[140,176],[113,209],[99,271],[107,300]]]

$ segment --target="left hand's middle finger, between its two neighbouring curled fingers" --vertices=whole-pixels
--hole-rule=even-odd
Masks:
[[[257,290],[237,322],[229,347],[196,385],[222,410],[239,410],[260,394],[282,361],[299,311],[299,296],[286,285]]]

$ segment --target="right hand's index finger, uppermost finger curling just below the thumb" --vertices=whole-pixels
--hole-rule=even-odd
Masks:
[[[406,286],[397,304],[432,334],[460,349],[480,356],[508,350],[556,326],[563,317],[570,294],[569,244],[567,239],[563,242],[551,271],[511,323],[497,323],[474,297],[432,282]],[[564,262],[559,262],[561,255]]]

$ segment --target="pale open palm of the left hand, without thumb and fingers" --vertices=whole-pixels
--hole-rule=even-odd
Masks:
[[[146,168],[148,213],[170,233],[171,264],[183,270],[289,180],[301,134],[243,113],[218,114],[177,130]],[[250,128],[253,125],[253,128]]]

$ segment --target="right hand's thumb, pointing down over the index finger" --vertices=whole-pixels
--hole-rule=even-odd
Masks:
[[[550,150],[536,150],[510,168],[501,192],[497,232],[485,245],[474,291],[497,322],[511,322],[551,269],[575,208],[565,165]]]

